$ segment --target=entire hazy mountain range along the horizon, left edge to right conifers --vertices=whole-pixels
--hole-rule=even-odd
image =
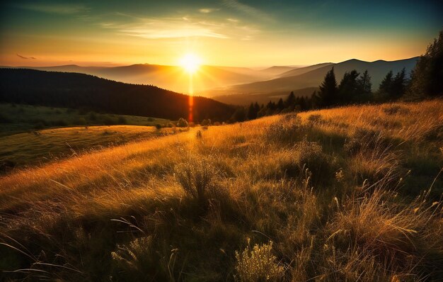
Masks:
[[[403,67],[406,73],[415,67],[418,57],[405,60],[365,62],[347,60],[333,63],[325,62],[307,67],[274,66],[265,69],[247,67],[201,66],[192,76],[182,67],[159,64],[132,64],[122,67],[81,67],[74,64],[55,67],[20,67],[52,72],[76,72],[91,74],[129,84],[148,84],[159,86],[180,93],[192,92],[198,96],[214,98],[223,103],[245,105],[252,102],[267,103],[277,101],[294,91],[296,96],[310,96],[323,81],[326,73],[334,67],[337,82],[345,72],[356,69],[367,70],[372,77],[372,90],[378,89],[384,76],[392,71],[400,72]]]

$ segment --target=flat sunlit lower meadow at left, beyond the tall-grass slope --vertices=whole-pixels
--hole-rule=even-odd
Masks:
[[[34,130],[3,136],[0,137],[0,167],[4,164],[4,169],[0,172],[57,162],[91,150],[149,139],[163,134],[165,130],[156,130],[154,126],[105,125]]]

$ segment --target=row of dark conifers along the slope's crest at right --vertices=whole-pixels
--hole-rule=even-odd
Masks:
[[[407,76],[405,69],[394,74],[388,72],[377,91],[372,91],[371,76],[368,71],[362,74],[352,69],[345,72],[340,82],[335,78],[334,67],[326,74],[318,91],[311,96],[296,97],[291,92],[284,100],[248,107],[238,107],[230,121],[244,121],[265,115],[309,111],[311,109],[346,106],[355,103],[384,103],[386,101],[418,100],[443,95],[443,30],[439,37],[420,56],[415,68]]]

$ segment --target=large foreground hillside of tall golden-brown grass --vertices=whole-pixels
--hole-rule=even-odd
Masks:
[[[442,108],[274,115],[12,171],[0,176],[0,275],[441,281]],[[58,130],[35,137],[51,134],[62,146]]]

